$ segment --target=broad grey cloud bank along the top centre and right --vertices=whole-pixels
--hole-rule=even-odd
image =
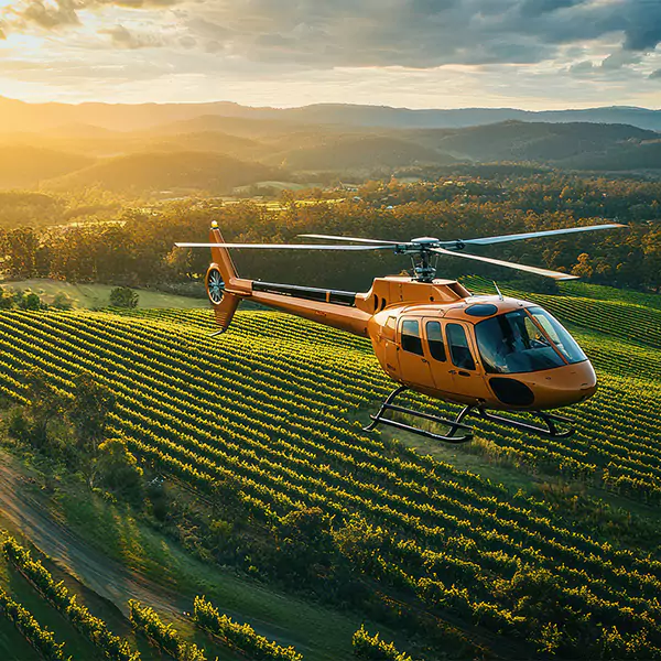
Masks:
[[[640,52],[661,41],[659,0],[212,0],[182,7],[202,43],[223,43],[256,62],[315,68],[533,64],[567,44],[608,39]]]

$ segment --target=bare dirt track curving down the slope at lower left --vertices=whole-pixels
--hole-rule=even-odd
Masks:
[[[0,521],[3,525],[24,534],[67,573],[112,602],[124,615],[128,614],[127,602],[139,599],[161,613],[181,617],[189,599],[99,553],[62,525],[48,511],[45,499],[32,491],[28,469],[18,468],[12,457],[0,452]]]

